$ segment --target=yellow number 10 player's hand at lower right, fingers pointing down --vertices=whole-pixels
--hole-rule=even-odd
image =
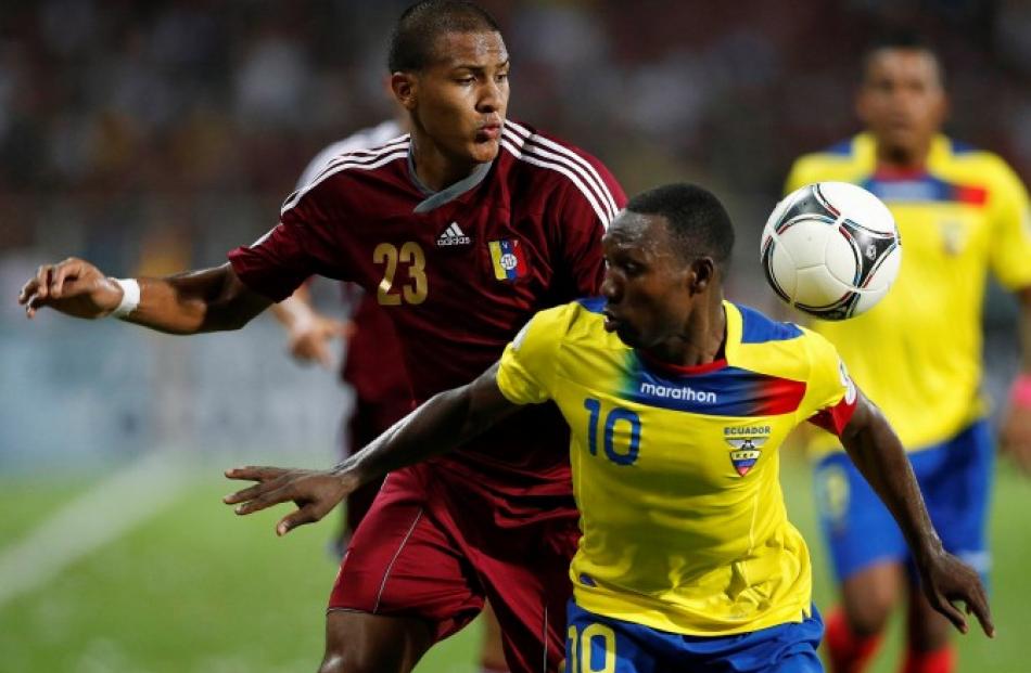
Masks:
[[[967,620],[957,603],[963,603],[967,614],[973,614],[990,638],[995,637],[988,595],[977,571],[947,552],[938,553],[920,566],[920,585],[931,607],[941,612],[960,633],[967,633]]]

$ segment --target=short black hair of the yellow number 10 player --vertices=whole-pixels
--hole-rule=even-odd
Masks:
[[[711,257],[726,272],[734,248],[734,225],[712,192],[683,182],[664,184],[637,194],[626,209],[638,215],[661,215],[684,261]]]

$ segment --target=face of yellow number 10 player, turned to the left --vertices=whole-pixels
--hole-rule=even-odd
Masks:
[[[674,251],[665,218],[624,210],[601,245],[606,331],[645,350],[683,334],[691,312],[690,266]]]

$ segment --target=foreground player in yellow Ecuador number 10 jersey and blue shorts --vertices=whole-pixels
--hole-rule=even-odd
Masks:
[[[895,515],[931,604],[966,631],[963,601],[992,634],[977,572],[942,549],[902,445],[833,347],[724,300],[733,240],[704,190],[638,195],[603,238],[603,297],[538,313],[480,378],[331,470],[229,470],[259,483],[226,502],[250,514],[294,501],[282,534],[378,475],[553,401],[572,431],[583,531],[567,670],[819,671],[809,552],[777,453],[811,420],[841,438]]]

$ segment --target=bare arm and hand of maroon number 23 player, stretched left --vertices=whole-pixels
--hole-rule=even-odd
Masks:
[[[138,303],[124,320],[170,334],[237,329],[271,300],[247,289],[228,263],[164,279],[140,279]],[[43,264],[18,295],[29,318],[50,307],[96,319],[126,310],[123,285],[86,260],[69,257]]]

